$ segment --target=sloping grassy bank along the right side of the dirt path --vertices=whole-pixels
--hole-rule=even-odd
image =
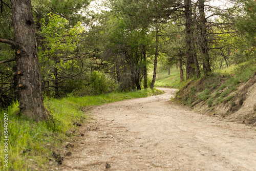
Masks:
[[[201,102],[214,110],[217,105],[228,103],[237,96],[238,87],[246,83],[255,71],[255,65],[243,63],[194,78],[177,92],[174,100],[191,107]]]

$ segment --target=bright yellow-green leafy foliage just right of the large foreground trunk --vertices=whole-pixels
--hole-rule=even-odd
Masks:
[[[55,79],[52,72],[53,67],[58,70],[67,70],[71,66],[77,67],[75,59],[67,59],[72,58],[73,53],[75,53],[80,41],[79,34],[83,32],[83,28],[80,22],[73,28],[69,28],[67,19],[59,15],[48,15],[48,23],[46,23],[45,18],[41,19],[41,36],[44,39],[41,41],[42,47],[39,47],[38,57],[42,63],[42,75],[50,75],[50,79]]]

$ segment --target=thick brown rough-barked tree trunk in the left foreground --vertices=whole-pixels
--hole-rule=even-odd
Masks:
[[[35,24],[30,0],[11,0],[15,41],[24,48],[16,48],[17,95],[20,112],[36,121],[45,120],[48,112],[41,92]]]

